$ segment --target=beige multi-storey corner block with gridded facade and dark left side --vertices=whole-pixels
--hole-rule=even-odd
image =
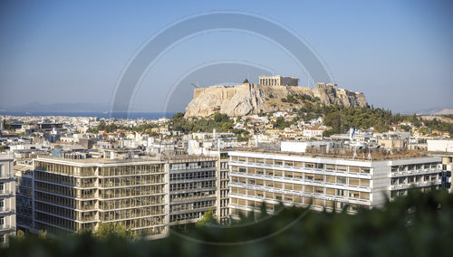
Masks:
[[[51,234],[124,224],[137,236],[169,233],[165,162],[147,159],[34,160],[34,229]]]

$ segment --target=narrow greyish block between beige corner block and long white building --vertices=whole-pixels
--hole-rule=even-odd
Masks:
[[[184,230],[210,209],[217,214],[217,158],[168,157],[169,225]]]

